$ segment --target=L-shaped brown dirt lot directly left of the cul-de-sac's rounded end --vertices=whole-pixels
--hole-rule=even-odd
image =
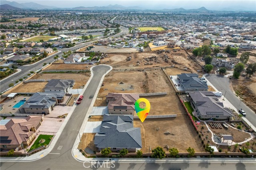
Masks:
[[[74,79],[75,85],[73,88],[78,88],[83,86],[87,83],[88,79],[90,78],[89,73],[80,73],[80,74],[73,74],[73,73],[56,73],[56,74],[37,74],[32,79]],[[38,82],[40,84],[40,82]]]

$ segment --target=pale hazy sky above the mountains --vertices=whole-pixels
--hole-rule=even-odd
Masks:
[[[18,3],[36,2],[38,4],[56,6],[59,8],[74,8],[78,6],[140,6],[143,9],[196,9],[205,7],[208,10],[251,10],[256,12],[256,0],[9,0]],[[49,2],[50,1],[50,2]],[[61,1],[61,3],[60,3]]]

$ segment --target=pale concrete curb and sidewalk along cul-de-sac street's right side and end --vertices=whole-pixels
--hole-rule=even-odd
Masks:
[[[100,65],[105,65],[105,64],[100,64]],[[96,66],[99,66],[99,65],[95,65],[95,66],[92,66],[91,68],[90,68],[90,71],[91,71],[91,77],[90,77],[90,79],[92,79],[92,77],[93,77],[93,67],[96,67]],[[110,71],[112,71],[112,69],[113,69],[113,67],[112,66],[110,66],[110,65],[106,65],[106,66],[109,66],[110,67],[110,69],[106,72],[106,74],[108,74]],[[80,128],[80,130],[79,130],[79,133],[80,134],[83,134],[84,133],[84,128],[86,127],[86,124],[87,124],[87,121],[88,121],[88,114],[90,114],[91,113],[91,111],[92,111],[92,107],[93,107],[93,105],[94,105],[94,103],[95,103],[95,101],[96,101],[96,98],[97,98],[97,96],[98,96],[98,92],[100,91],[100,87],[101,87],[101,85],[102,85],[102,82],[103,82],[103,80],[104,80],[104,77],[106,76],[106,74],[104,74],[103,76],[102,76],[102,78],[101,78],[101,80],[100,80],[100,83],[99,83],[99,85],[98,85],[98,88],[97,88],[97,90],[96,90],[96,93],[94,94],[94,97],[93,97],[93,99],[92,99],[92,103],[91,103],[91,105],[90,105],[90,107],[89,107],[89,109],[88,109],[88,112],[86,113],[86,117],[85,117],[85,119],[84,119],[84,122],[83,122],[83,124],[82,124],[82,126],[81,126],[81,128]],[[89,80],[90,80],[89,79]],[[88,83],[88,82],[87,82]],[[86,83],[86,85],[87,85],[87,83]],[[89,83],[88,83],[89,84]],[[87,86],[86,86],[87,87]],[[81,137],[81,136],[80,136]],[[80,157],[81,158],[85,158],[84,157],[84,155],[82,155],[82,153],[80,152],[80,150],[78,150],[78,145],[79,145],[79,143],[80,143],[80,138],[79,138],[79,134],[78,134],[78,136],[76,137],[76,141],[75,141],[75,143],[74,143],[74,145],[73,145],[73,147],[72,147],[72,156],[73,156],[73,158],[74,159],[76,159],[76,160],[78,160],[78,161],[80,161],[80,162],[83,162],[84,160],[80,160]],[[76,154],[79,154],[79,155],[76,155],[75,156],[75,154],[74,153],[76,153]]]

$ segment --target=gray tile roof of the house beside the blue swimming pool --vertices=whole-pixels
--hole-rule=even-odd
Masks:
[[[50,108],[56,104],[55,99],[62,99],[66,93],[34,93],[30,99],[24,103],[22,108]]]

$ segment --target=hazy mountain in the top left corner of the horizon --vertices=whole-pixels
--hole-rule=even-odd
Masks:
[[[0,0],[0,4],[8,4],[10,6],[22,9],[56,9],[56,6],[47,6],[47,5],[40,5],[34,2],[26,2],[26,3],[18,3],[18,2],[10,2],[7,0]]]

